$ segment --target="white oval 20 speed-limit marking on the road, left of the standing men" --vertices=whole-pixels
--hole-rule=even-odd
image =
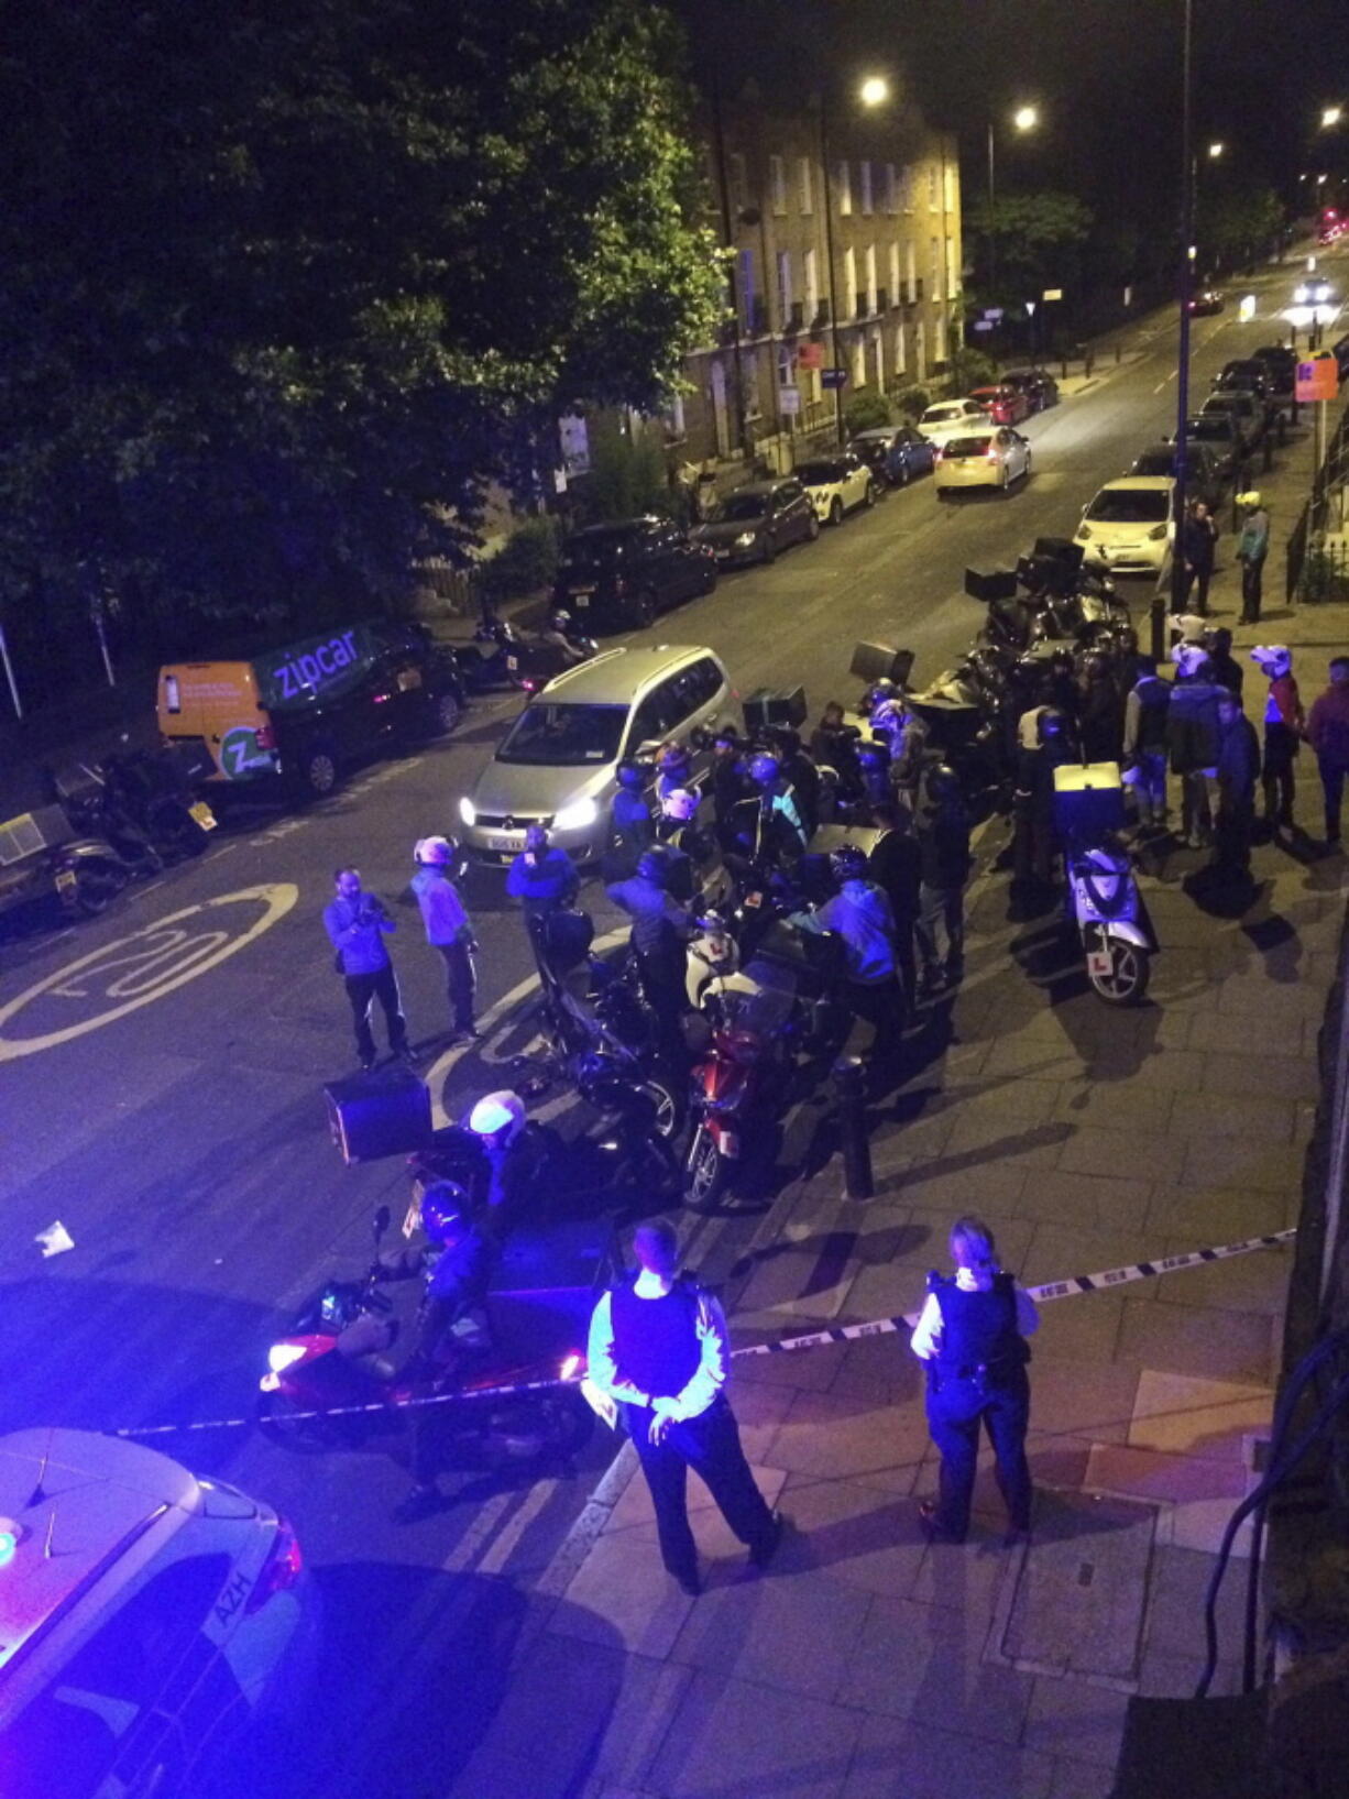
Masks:
[[[140,1006],[149,1006],[151,1000],[164,998],[165,993],[173,993],[187,980],[196,980],[198,975],[245,950],[264,930],[279,923],[299,898],[300,889],[291,882],[243,887],[239,892],[218,894],[201,905],[183,907],[182,912],[171,912],[153,925],[142,925],[130,937],[117,937],[101,950],[81,955],[77,962],[67,962],[65,968],[58,968],[54,975],[25,988],[18,998],[0,1007],[0,1033],[25,1007],[43,998],[88,998],[112,970],[122,970],[122,973],[103,988],[103,997],[121,1000],[121,1004],[112,1004],[106,1011],[97,1011],[90,1018],[45,1031],[40,1036],[11,1038],[0,1034],[0,1061],[14,1061],[18,1056],[56,1049],[59,1043],[68,1043],[72,1038],[124,1018]],[[219,928],[219,914],[225,907],[239,905],[263,907],[263,914],[246,930],[234,935],[228,928]],[[209,928],[189,932],[183,928],[187,919],[196,919]]]

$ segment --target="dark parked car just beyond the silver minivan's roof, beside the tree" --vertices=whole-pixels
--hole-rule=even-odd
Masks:
[[[554,604],[581,630],[637,630],[716,586],[716,556],[667,518],[622,518],[574,531],[558,556]]]

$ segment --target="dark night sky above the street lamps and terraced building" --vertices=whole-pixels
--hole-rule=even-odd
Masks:
[[[1193,0],[1194,133],[1227,144],[1223,176],[1291,198],[1302,169],[1349,175],[1344,0]],[[790,90],[878,67],[934,124],[960,133],[966,180],[982,175],[989,112],[1040,104],[1045,128],[1000,153],[1009,187],[1067,187],[1099,216],[1157,218],[1180,157],[1184,0],[676,0],[696,67]],[[701,52],[701,54],[700,54]]]

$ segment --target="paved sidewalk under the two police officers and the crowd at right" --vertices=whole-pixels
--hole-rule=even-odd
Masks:
[[[1261,482],[1272,570],[1308,435]],[[1291,612],[1279,581],[1266,590],[1237,651],[1293,644],[1309,703],[1349,648],[1349,606]],[[1234,567],[1212,604],[1236,621]],[[1254,720],[1263,689],[1252,664]],[[1297,811],[1320,831],[1306,752]],[[1027,1284],[1297,1222],[1345,862],[1315,835],[1263,844],[1254,903],[1228,917],[1184,885],[1203,860],[1149,864],[1162,953],[1148,1004],[1122,1013],[1085,989],[1050,921],[1007,921],[1004,876],[978,878],[968,979],[876,1119],[876,1196],[845,1200],[835,1157],[786,1189],[737,1263],[700,1261],[739,1342],[917,1308],[971,1207]],[[809,1135],[811,1114],[799,1123]],[[925,1542],[935,1461],[907,1338],[737,1362],[750,1459],[795,1522],[772,1571],[746,1567],[694,1481],[707,1590],[685,1598],[624,1450],[531,1601],[509,1695],[453,1799],[1110,1794],[1128,1696],[1185,1696],[1203,1662],[1202,1599],[1268,1428],[1288,1268],[1264,1250],[1043,1308],[1029,1549],[1000,1547],[987,1468],[971,1542]],[[1243,1576],[1237,1563],[1223,1590],[1214,1693],[1239,1689]]]

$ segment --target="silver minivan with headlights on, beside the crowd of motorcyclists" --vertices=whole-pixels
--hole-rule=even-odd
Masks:
[[[619,763],[730,723],[736,698],[721,658],[689,644],[606,649],[567,669],[460,799],[464,847],[504,867],[525,847],[525,828],[545,824],[574,862],[592,862],[608,849]]]

